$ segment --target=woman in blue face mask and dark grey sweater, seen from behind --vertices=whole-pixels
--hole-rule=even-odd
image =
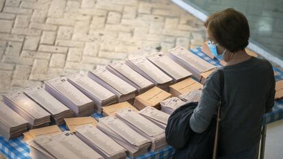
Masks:
[[[219,60],[224,59],[224,106],[219,123],[219,159],[256,156],[262,115],[271,111],[275,79],[271,63],[247,55],[250,38],[247,19],[232,8],[210,16],[204,26],[208,46]],[[219,102],[219,72],[208,76],[202,97],[189,121],[194,132],[204,132]]]

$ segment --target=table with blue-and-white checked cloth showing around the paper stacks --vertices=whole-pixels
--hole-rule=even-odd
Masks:
[[[211,59],[210,57],[202,53],[201,48],[191,49],[191,53],[198,55],[198,57],[201,57],[202,59],[208,61],[209,63],[217,66],[217,68],[221,67],[221,64],[219,63],[219,61],[217,61],[217,59]],[[273,70],[278,72],[278,74],[275,76],[276,81],[282,80],[283,72],[275,67],[273,67]],[[100,117],[103,117],[103,115],[94,113],[92,117],[94,117],[95,119],[98,119]],[[262,142],[261,147],[264,147],[265,145],[264,141],[265,141],[265,134],[266,134],[266,125],[274,121],[278,121],[280,119],[283,119],[283,100],[276,100],[273,106],[273,110],[270,113],[267,113],[263,116],[263,121],[262,121],[262,126],[263,126],[262,127],[262,141],[263,142]],[[66,130],[66,126],[60,126],[60,128],[62,130]],[[264,149],[262,150],[261,151],[264,154]],[[0,151],[2,154],[12,159],[30,158],[29,157],[29,146],[27,145],[27,143],[25,143],[25,141],[23,141],[23,136],[20,136],[16,139],[11,139],[9,141],[3,139],[3,137],[0,136]],[[161,149],[159,151],[148,152],[147,154],[139,156],[136,159],[153,159],[153,158],[166,159],[166,158],[171,158],[173,154],[174,154],[174,149],[168,146],[165,149]]]

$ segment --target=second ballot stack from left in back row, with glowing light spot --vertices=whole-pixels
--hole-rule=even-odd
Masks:
[[[28,121],[28,128],[48,126],[50,114],[21,91],[3,95],[3,102]]]

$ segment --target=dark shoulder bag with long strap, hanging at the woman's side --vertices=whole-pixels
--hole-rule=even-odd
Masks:
[[[198,102],[190,102],[180,106],[170,115],[165,128],[167,143],[174,147],[173,158],[176,159],[208,159],[217,157],[217,141],[219,121],[221,120],[221,106],[223,101],[224,72],[218,70],[221,97],[217,104],[217,115],[213,116],[207,130],[201,134],[193,132],[189,126],[189,119]]]

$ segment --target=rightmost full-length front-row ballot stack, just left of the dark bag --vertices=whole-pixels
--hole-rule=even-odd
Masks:
[[[133,130],[150,140],[152,151],[157,151],[167,146],[165,130],[146,119],[146,117],[131,109],[122,109],[116,113],[116,116],[133,128]]]

